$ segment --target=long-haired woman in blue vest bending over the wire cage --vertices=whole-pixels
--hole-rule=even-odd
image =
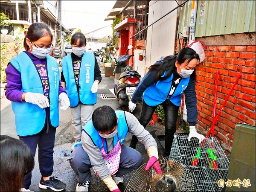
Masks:
[[[176,56],[167,56],[151,65],[148,73],[140,82],[129,102],[131,111],[143,95],[143,106],[139,122],[146,127],[157,105],[162,105],[165,113],[165,149],[164,156],[169,156],[176,131],[176,120],[183,93],[186,95],[186,109],[189,122],[189,141],[191,137],[204,140],[195,129],[197,121],[197,98],[195,93],[195,67],[199,56],[189,47],[180,50]],[[132,136],[130,147],[135,148],[137,137]]]

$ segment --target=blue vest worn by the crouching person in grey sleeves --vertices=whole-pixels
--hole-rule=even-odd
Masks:
[[[120,144],[122,145],[128,133],[128,125],[125,119],[125,112],[124,111],[115,111],[115,112],[116,112],[116,116],[118,116],[118,124],[117,124],[118,139]],[[101,149],[103,146],[102,137],[100,137],[99,132],[94,128],[92,119],[84,125],[83,130],[92,139],[94,145],[98,146],[99,149]],[[108,151],[106,140],[103,139],[103,141],[104,141],[104,149],[105,151]],[[114,136],[113,145],[115,146],[116,143],[117,143],[117,134]]]

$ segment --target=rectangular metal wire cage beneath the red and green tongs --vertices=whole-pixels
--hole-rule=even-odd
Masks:
[[[182,160],[192,170],[195,176],[196,191],[221,191],[218,181],[227,179],[229,168],[229,160],[224,154],[218,140],[213,139],[213,154],[217,157],[217,169],[210,167],[210,158],[207,149],[211,149],[211,138],[207,138],[204,146],[201,148],[201,156],[199,157],[197,166],[192,166],[192,160],[195,157],[201,144],[197,139],[192,138],[188,141],[188,135],[175,134],[172,143],[170,156]]]

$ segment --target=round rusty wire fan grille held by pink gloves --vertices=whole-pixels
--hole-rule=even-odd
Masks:
[[[175,157],[158,160],[162,174],[151,167],[145,171],[146,163],[140,166],[129,181],[125,191],[194,191],[195,177],[190,168]]]

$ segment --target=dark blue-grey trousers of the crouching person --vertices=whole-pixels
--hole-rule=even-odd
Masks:
[[[82,145],[77,145],[76,149],[71,153],[68,158],[70,166],[76,172],[76,179],[78,183],[86,182],[90,180],[92,175],[90,168],[90,159],[87,152],[84,151]],[[135,169],[138,169],[143,161],[143,157],[140,152],[135,149],[122,145],[122,152],[120,156],[120,164],[118,172],[115,173],[117,177],[125,175]]]

